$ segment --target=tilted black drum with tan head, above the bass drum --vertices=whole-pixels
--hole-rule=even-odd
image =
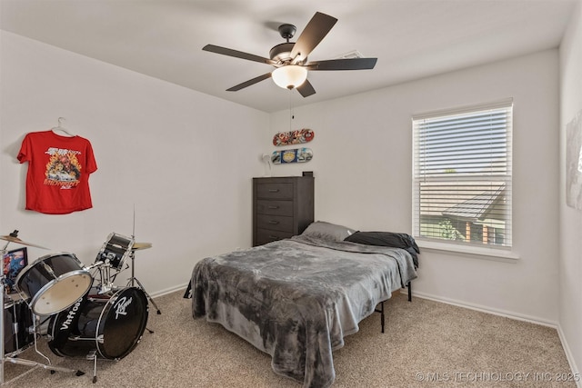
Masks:
[[[71,307],[91,284],[91,274],[75,254],[67,253],[40,257],[16,278],[16,288],[32,298],[30,307],[36,315],[51,315]]]

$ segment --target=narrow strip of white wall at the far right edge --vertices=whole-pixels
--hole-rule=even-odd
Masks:
[[[582,212],[566,204],[566,125],[582,112],[582,3],[560,45],[559,323],[574,372],[582,366]]]

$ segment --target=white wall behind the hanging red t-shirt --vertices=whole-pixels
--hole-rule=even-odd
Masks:
[[[267,114],[19,35],[0,37],[0,234],[18,229],[25,242],[51,248],[29,248],[29,262],[65,251],[92,264],[108,234],[132,234],[134,205],[135,240],[153,244],[135,259],[149,293],[186,284],[207,255],[251,245],[251,178],[264,173]],[[94,208],[25,211],[27,164],[16,154],[26,133],[59,116],[93,144]]]

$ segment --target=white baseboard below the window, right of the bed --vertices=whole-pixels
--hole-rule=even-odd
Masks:
[[[402,293],[408,293],[408,290],[402,290]],[[499,316],[503,316],[503,317],[510,318],[510,319],[516,319],[518,321],[525,321],[528,323],[536,323],[536,324],[541,324],[543,326],[548,326],[548,327],[554,328],[557,330],[557,335],[560,339],[560,343],[562,343],[562,348],[564,349],[564,353],[566,353],[567,363],[570,365],[570,369],[572,370],[572,373],[574,373],[575,376],[579,376],[580,380],[582,380],[582,375],[580,375],[580,373],[577,369],[576,362],[574,361],[574,356],[570,352],[570,348],[567,344],[566,336],[564,335],[564,332],[562,331],[562,327],[559,325],[559,323],[557,323],[555,321],[547,321],[547,320],[539,319],[537,317],[533,317],[533,316],[529,316],[529,315],[525,315],[525,314],[508,312],[506,310],[492,309],[492,308],[487,307],[487,306],[474,304],[474,303],[461,302],[461,301],[457,301],[454,299],[443,298],[440,296],[431,295],[428,293],[418,293],[414,290],[412,292],[412,296],[413,296],[413,301],[414,301],[414,297],[418,297],[418,298],[427,299],[430,301],[452,304],[452,305],[456,305],[458,307],[464,307],[464,308],[467,308],[470,310],[476,310],[476,311],[479,311],[481,313],[492,313],[494,315],[499,315]],[[577,384],[577,388],[582,388],[582,381],[577,381],[576,384]]]

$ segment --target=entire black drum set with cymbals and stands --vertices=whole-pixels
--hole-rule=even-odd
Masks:
[[[10,243],[43,248],[20,240],[18,231],[0,236],[0,240],[7,242],[0,250],[3,257]],[[36,346],[42,337],[58,356],[93,361],[93,383],[97,380],[97,359],[119,361],[131,353],[146,330],[148,300],[161,313],[135,278],[135,251],[151,246],[135,243],[133,236],[112,233],[89,266],[75,254],[58,253],[42,256],[23,268],[15,280],[16,294],[0,290],[0,305],[4,305],[0,314],[0,333],[4,334],[4,341],[0,341],[0,384],[5,383],[6,362],[43,367],[51,373],[85,374],[51,365]],[[128,258],[131,278],[125,286],[117,286],[115,277],[129,267],[125,263]],[[0,284],[5,288],[4,271],[0,272]],[[17,357],[32,345],[46,363]]]

